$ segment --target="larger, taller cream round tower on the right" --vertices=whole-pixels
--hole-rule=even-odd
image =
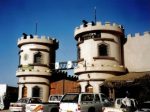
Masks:
[[[75,29],[74,37],[78,49],[78,66],[74,72],[79,76],[81,92],[100,92],[105,79],[125,72],[121,25],[84,21]]]

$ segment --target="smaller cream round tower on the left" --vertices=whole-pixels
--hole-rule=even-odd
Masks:
[[[55,51],[58,41],[49,37],[24,34],[18,39],[19,66],[18,77],[19,98],[40,97],[47,101],[49,96],[49,77],[55,63]]]

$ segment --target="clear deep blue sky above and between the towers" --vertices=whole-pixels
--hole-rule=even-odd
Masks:
[[[125,35],[150,31],[150,0],[0,0],[0,84],[17,87],[17,40],[36,23],[37,35],[59,40],[57,62],[76,60],[74,29],[94,21],[94,7],[97,21],[123,25]]]

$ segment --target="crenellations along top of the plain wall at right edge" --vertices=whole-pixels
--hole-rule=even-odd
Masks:
[[[134,35],[133,34],[128,34],[127,35],[127,39],[135,39],[135,38],[150,38],[150,32],[149,31],[146,31],[144,32],[143,34],[141,33],[135,33]]]

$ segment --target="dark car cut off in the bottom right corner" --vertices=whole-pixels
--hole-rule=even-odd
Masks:
[[[150,101],[145,101],[140,105],[140,109],[136,112],[150,112]]]

